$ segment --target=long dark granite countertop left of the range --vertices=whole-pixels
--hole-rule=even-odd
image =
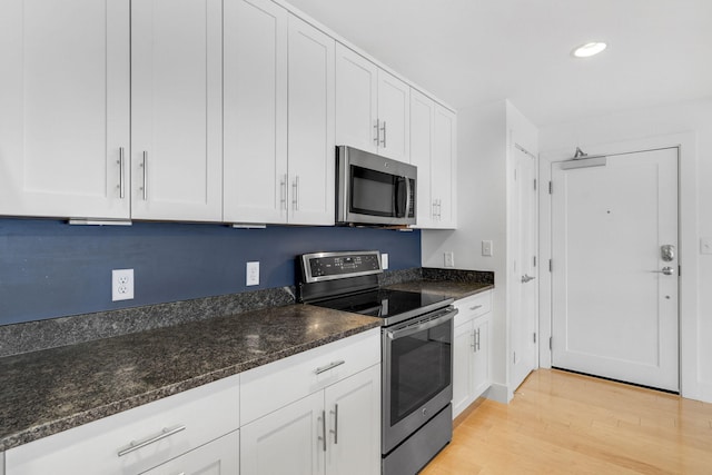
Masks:
[[[0,358],[0,452],[379,325],[288,305]]]

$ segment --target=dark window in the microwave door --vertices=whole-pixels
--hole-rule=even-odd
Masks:
[[[396,178],[352,165],[350,211],[372,216],[396,216]]]

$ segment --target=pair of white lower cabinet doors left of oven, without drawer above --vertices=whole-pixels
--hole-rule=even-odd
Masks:
[[[241,428],[243,474],[377,474],[380,367],[372,366]]]

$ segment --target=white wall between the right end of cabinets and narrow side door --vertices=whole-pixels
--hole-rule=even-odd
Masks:
[[[490,397],[508,402],[510,328],[507,315],[507,176],[510,142],[536,154],[536,129],[508,101],[457,111],[457,229],[423,230],[424,267],[443,267],[446,251],[455,267],[495,273],[493,294]],[[482,241],[493,241],[493,256],[482,256]]]

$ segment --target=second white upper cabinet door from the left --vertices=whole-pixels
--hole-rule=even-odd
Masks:
[[[131,2],[132,209],[222,218],[222,2]]]

